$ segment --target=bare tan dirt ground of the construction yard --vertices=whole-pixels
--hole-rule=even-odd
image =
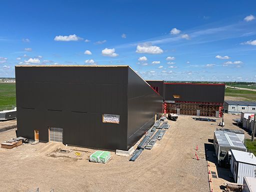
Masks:
[[[237,129],[225,114],[225,128]],[[151,150],[134,161],[117,156],[106,164],[88,161],[93,149],[76,156],[57,149],[73,149],[61,143],[23,144],[0,148],[0,191],[209,191],[204,144],[213,138],[216,122],[195,121],[180,115]],[[0,132],[0,142],[15,137],[15,129]],[[245,133],[245,136],[249,135]],[[195,147],[200,160],[195,159]]]

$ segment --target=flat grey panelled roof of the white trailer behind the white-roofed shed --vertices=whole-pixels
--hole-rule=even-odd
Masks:
[[[219,146],[237,147],[246,150],[246,147],[234,132],[215,130],[214,134]]]

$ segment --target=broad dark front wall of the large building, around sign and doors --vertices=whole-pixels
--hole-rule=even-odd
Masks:
[[[127,148],[127,66],[15,67],[18,135],[48,141],[48,127],[63,128],[63,143]],[[102,114],[120,123],[103,123]]]

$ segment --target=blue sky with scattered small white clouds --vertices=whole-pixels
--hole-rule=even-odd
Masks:
[[[18,64],[100,64],[256,81],[255,0],[2,0],[0,26],[0,77]]]

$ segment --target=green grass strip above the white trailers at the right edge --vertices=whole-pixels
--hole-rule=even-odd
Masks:
[[[225,96],[242,97],[242,100],[256,100],[256,91],[225,88]]]

